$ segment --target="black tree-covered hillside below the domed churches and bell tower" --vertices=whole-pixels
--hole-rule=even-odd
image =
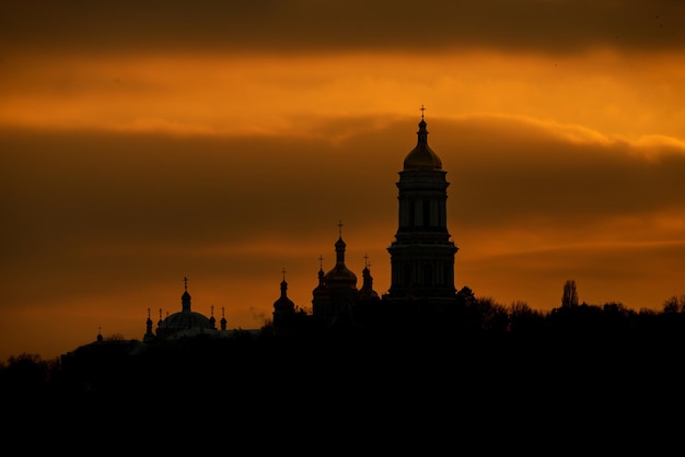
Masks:
[[[282,446],[271,438],[287,435],[300,448],[320,446],[311,436],[336,446],[392,436],[403,447],[436,431],[450,443],[549,433],[568,446],[595,431],[614,446],[617,430],[632,440],[636,424],[670,423],[685,406],[685,296],[634,310],[579,303],[573,285],[549,312],[464,288],[437,319],[418,301],[413,318],[378,326],[279,335],[266,325],[163,343],[112,336],[55,360],[19,354],[0,364],[7,436],[28,444],[60,430],[58,443],[100,436],[124,453],[146,440],[198,446],[189,431],[222,449],[227,433],[232,446]]]

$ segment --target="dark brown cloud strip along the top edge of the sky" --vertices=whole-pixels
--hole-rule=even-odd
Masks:
[[[685,3],[565,1],[4,2],[4,52],[433,52],[682,49]]]

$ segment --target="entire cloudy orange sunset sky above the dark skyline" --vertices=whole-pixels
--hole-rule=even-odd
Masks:
[[[232,2],[231,2],[232,3]],[[509,305],[685,294],[685,3],[4,2],[0,360],[269,318],[369,256],[425,105],[455,284]]]

